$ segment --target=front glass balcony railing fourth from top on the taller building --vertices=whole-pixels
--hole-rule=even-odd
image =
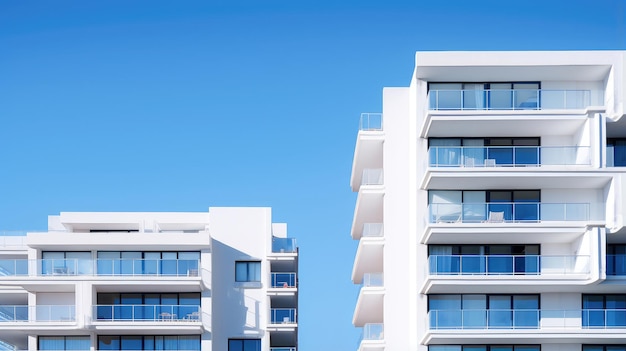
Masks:
[[[589,256],[430,255],[430,275],[588,274]]]

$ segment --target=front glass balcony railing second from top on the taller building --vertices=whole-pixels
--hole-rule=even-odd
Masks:
[[[588,146],[432,146],[430,167],[589,166]]]

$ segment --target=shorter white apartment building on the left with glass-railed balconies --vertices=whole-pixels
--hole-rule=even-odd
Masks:
[[[2,349],[296,351],[298,248],[269,208],[62,212],[4,234]]]

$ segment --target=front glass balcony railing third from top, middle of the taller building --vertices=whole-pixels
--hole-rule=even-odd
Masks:
[[[536,223],[590,220],[588,203],[488,202],[428,205],[430,223]]]

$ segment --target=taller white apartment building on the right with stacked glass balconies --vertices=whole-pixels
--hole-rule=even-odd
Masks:
[[[626,350],[626,52],[418,52],[363,114],[360,351]]]

